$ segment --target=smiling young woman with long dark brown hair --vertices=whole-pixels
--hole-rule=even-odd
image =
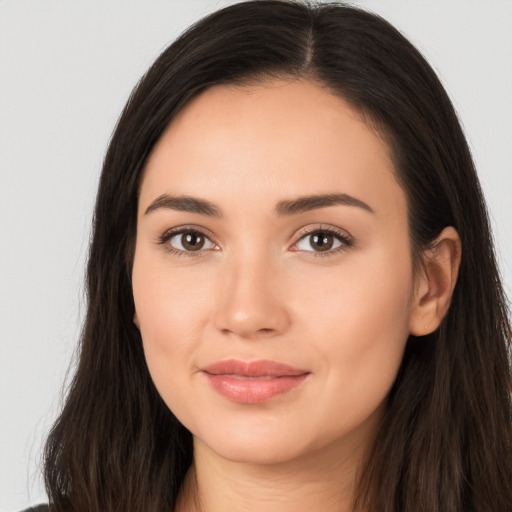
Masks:
[[[112,138],[55,511],[512,510],[510,325],[435,73],[357,9],[225,8]]]

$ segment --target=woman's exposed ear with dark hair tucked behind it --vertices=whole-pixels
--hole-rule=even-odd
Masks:
[[[457,231],[449,226],[423,254],[423,268],[416,276],[409,333],[424,336],[435,331],[450,307],[461,259]]]

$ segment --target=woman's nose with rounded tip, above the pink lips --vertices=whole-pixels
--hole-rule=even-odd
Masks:
[[[214,323],[223,334],[262,339],[286,331],[286,286],[268,261],[252,255],[226,263],[220,281]]]

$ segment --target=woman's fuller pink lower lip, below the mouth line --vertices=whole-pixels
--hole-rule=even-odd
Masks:
[[[259,404],[288,393],[304,382],[308,373],[282,377],[244,377],[206,373],[210,385],[232,402]]]

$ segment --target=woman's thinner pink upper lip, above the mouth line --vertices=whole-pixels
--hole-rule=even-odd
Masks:
[[[298,376],[309,373],[307,370],[294,368],[275,361],[238,361],[227,359],[210,364],[202,370],[211,375],[238,375],[241,377],[283,377]]]

